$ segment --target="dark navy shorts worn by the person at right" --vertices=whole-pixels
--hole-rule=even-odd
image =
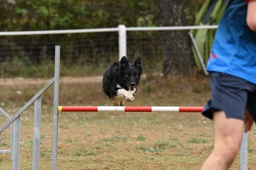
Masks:
[[[224,111],[227,118],[244,120],[247,109],[256,122],[256,84],[222,72],[210,72],[210,87],[211,100],[205,104],[204,116],[212,119],[213,112]]]

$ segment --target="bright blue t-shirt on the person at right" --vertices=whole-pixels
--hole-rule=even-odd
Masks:
[[[245,1],[228,2],[206,69],[224,72],[256,84],[256,32],[247,26],[246,13]]]

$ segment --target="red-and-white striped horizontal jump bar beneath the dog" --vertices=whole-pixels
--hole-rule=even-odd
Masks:
[[[59,106],[58,112],[202,112],[203,108],[195,106]]]

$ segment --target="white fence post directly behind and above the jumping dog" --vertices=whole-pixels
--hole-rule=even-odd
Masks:
[[[126,56],[126,27],[124,25],[118,25],[119,34],[119,61],[123,56]]]

